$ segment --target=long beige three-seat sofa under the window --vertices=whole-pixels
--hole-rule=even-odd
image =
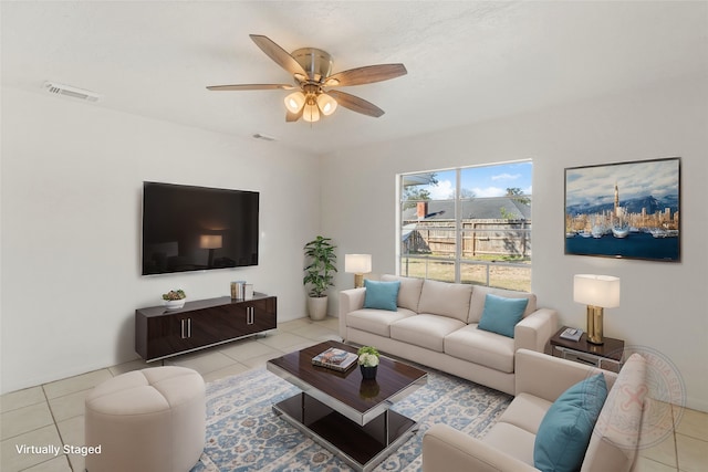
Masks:
[[[340,335],[497,390],[514,392],[514,353],[543,352],[558,329],[558,313],[538,308],[532,293],[383,275],[400,282],[396,310],[365,308],[366,289],[340,292]],[[513,338],[478,324],[487,294],[527,298]]]

